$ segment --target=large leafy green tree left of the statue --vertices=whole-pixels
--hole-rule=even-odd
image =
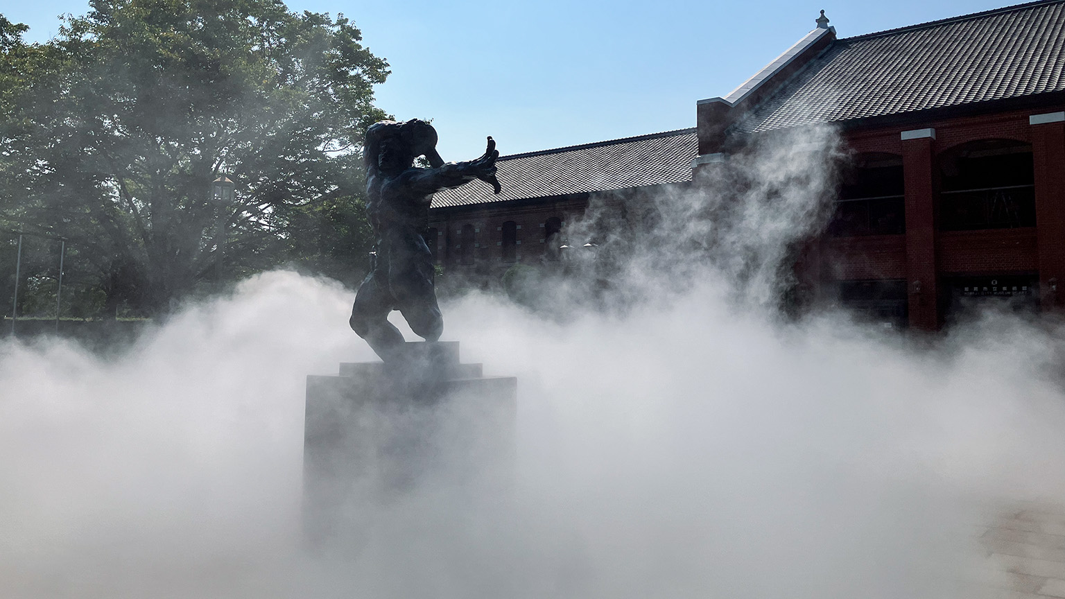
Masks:
[[[309,247],[363,259],[358,144],[384,117],[373,86],[389,71],[342,15],[93,0],[48,44],[20,33],[0,21],[0,215],[68,239],[105,311],[330,262]],[[211,196],[219,174],[232,201]]]

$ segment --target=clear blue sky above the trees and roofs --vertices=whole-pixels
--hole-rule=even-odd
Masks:
[[[695,101],[723,96],[814,28],[823,9],[840,37],[1014,4],[892,2],[407,2],[291,0],[344,13],[392,65],[378,106],[432,118],[445,160],[504,155],[693,127]],[[2,0],[0,13],[55,34],[85,0]]]

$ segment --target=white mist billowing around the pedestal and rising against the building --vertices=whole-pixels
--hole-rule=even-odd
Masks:
[[[512,488],[437,473],[367,504],[343,555],[305,551],[299,502],[304,376],[372,359],[349,290],[267,273],[110,360],[6,342],[3,595],[971,596],[972,527],[1065,490],[1065,345],[995,313],[934,347],[846,314],[781,322],[834,148],[808,132],[651,198],[659,226],[596,303],[545,281],[567,319],[446,304],[465,361],[520,377]]]

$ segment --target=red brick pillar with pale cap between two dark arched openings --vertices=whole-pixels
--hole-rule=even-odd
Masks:
[[[935,268],[935,129],[902,132],[910,326],[939,327]]]

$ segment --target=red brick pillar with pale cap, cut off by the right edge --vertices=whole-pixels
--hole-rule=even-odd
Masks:
[[[1035,226],[1039,300],[1044,310],[1065,305],[1065,112],[1034,114]],[[1056,289],[1055,289],[1056,288]]]

